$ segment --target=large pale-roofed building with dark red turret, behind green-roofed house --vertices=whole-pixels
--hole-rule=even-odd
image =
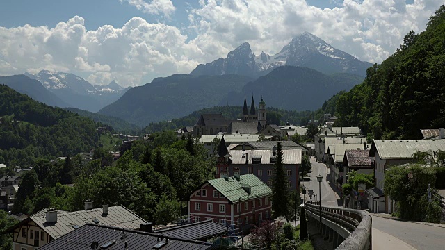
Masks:
[[[236,149],[238,146],[234,147],[232,150],[228,150],[225,147],[225,141],[221,139],[220,146],[218,147],[218,162],[216,163],[216,178],[223,176],[235,176],[237,174],[254,174],[261,179],[268,186],[272,185],[273,169],[275,167],[275,162],[277,159],[277,147],[265,144],[262,149],[255,149],[255,147],[260,147],[261,144],[266,142],[250,142],[254,145],[252,149],[243,150],[241,146],[240,149]],[[282,142],[284,147],[287,143]],[[297,145],[297,146],[295,146]],[[270,147],[272,146],[272,147]],[[302,160],[302,149],[282,149],[283,153],[283,167],[286,175],[289,178],[289,188],[295,190],[298,187],[298,169],[301,166]],[[301,147],[300,145],[293,142],[293,147]]]

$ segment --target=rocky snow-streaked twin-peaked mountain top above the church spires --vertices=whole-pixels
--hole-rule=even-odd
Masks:
[[[282,65],[309,67],[325,74],[350,73],[366,76],[366,69],[372,64],[362,62],[344,51],[335,49],[316,35],[305,32],[293,38],[274,56],[264,52],[255,56],[250,50],[250,45],[245,42],[230,51],[227,58],[198,65],[191,74],[261,76]]]

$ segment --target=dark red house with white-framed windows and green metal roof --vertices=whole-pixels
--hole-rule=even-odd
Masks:
[[[208,180],[188,197],[188,219],[247,229],[270,218],[272,190],[254,174]]]

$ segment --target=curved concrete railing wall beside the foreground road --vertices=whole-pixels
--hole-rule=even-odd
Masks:
[[[372,217],[364,211],[322,206],[320,219],[319,206],[306,203],[305,208],[310,217],[317,222],[321,220],[321,233],[327,235],[337,249],[372,249]]]

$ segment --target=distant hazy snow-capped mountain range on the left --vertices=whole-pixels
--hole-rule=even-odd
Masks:
[[[40,81],[47,90],[56,94],[71,107],[97,112],[119,99],[127,89],[115,81],[108,85],[92,85],[75,74],[42,70],[38,74],[25,73],[29,78]]]

